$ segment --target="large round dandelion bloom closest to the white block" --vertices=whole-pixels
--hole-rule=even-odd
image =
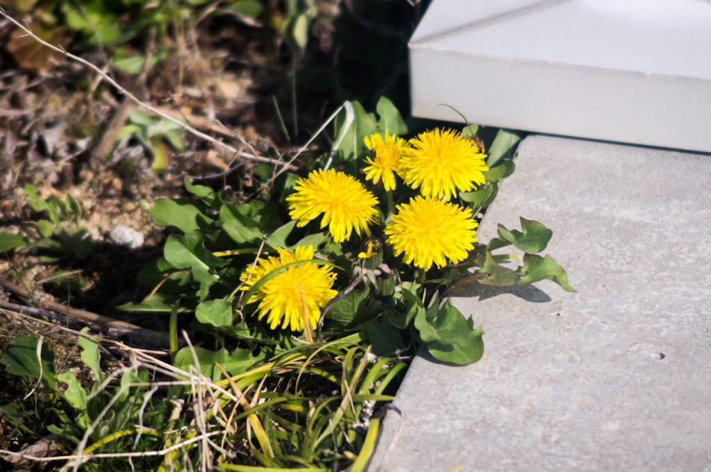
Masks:
[[[451,130],[428,131],[410,139],[412,147],[400,159],[400,171],[405,183],[420,187],[426,197],[449,200],[459,191],[471,191],[474,183],[486,182],[486,157],[470,139]]]

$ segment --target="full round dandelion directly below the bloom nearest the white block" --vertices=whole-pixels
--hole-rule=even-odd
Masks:
[[[474,249],[477,226],[470,209],[418,196],[397,205],[397,215],[385,227],[385,234],[396,257],[405,252],[405,263],[415,261],[415,267],[427,270],[433,262],[444,267],[445,257],[454,263],[466,259],[467,251]]]

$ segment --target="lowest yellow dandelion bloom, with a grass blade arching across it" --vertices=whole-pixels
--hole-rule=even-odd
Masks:
[[[242,272],[240,280],[245,282],[242,290],[249,290],[264,275],[272,270],[296,261],[310,261],[314,259],[314,247],[296,247],[295,252],[289,252],[277,247],[279,257],[260,258],[257,266],[248,268]],[[250,277],[251,274],[251,277]],[[249,279],[249,280],[247,280]],[[304,329],[304,316],[301,312],[301,293],[299,284],[304,293],[304,305],[306,306],[306,318],[309,320],[311,329],[316,329],[319,323],[321,309],[338,294],[332,290],[333,281],[336,274],[331,272],[331,267],[318,266],[311,262],[289,267],[283,274],[277,275],[257,290],[252,297],[247,300],[247,304],[260,302],[259,319],[269,313],[267,323],[274,329],[279,323],[282,328],[287,326],[292,331]],[[283,320],[283,321],[282,321]]]

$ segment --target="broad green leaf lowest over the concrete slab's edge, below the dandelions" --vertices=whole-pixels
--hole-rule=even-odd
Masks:
[[[483,355],[483,330],[474,329],[474,321],[464,318],[449,300],[434,320],[428,321],[420,313],[415,318],[415,327],[434,358],[466,365],[475,363]]]

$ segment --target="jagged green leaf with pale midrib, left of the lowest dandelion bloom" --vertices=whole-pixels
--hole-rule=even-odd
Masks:
[[[218,274],[215,274],[215,268],[230,263],[206,250],[203,235],[199,232],[191,231],[185,236],[170,235],[164,252],[166,260],[176,269],[191,269],[193,276],[200,282],[201,301],[208,296],[210,286],[220,280]]]

